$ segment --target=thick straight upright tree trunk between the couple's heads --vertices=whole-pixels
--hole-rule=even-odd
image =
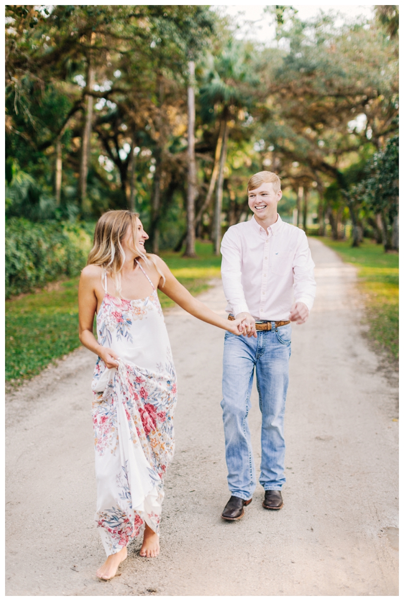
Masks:
[[[189,61],[188,85],[188,191],[186,197],[187,235],[184,257],[195,254],[195,197],[197,195],[197,165],[195,162],[195,63]]]

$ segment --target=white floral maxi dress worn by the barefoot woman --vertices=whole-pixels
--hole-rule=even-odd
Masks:
[[[136,261],[138,262],[138,261]],[[159,533],[163,484],[174,453],[176,372],[157,291],[128,301],[107,292],[97,314],[99,344],[119,367],[98,358],[91,388],[97,511],[106,555],[120,551],[147,523]]]

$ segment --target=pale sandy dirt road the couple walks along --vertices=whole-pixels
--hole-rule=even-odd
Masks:
[[[7,397],[8,595],[397,595],[397,388],[360,325],[355,269],[318,240],[317,298],[293,326],[284,507],[259,486],[239,522],[228,500],[221,408],[224,332],[179,308],[166,322],[179,379],[176,456],[168,471],[161,555],[129,548],[100,582],[90,381],[78,349]],[[201,296],[224,313],[221,282]],[[256,465],[260,413],[250,427]]]

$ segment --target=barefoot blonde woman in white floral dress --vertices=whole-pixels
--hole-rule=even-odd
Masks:
[[[107,559],[97,576],[104,580],[115,576],[133,537],[143,534],[142,557],[159,554],[177,386],[156,289],[198,319],[240,334],[240,320],[218,317],[192,297],[161,258],[145,252],[147,239],[134,213],[105,213],[79,283],[79,338],[98,355],[92,383],[96,522]]]

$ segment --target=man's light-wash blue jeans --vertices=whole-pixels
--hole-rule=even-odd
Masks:
[[[251,499],[256,489],[248,412],[254,367],[262,413],[260,484],[265,490],[281,490],[284,477],[285,441],[283,418],[289,383],[290,323],[247,338],[226,332],[223,354],[223,424],[230,492]]]

